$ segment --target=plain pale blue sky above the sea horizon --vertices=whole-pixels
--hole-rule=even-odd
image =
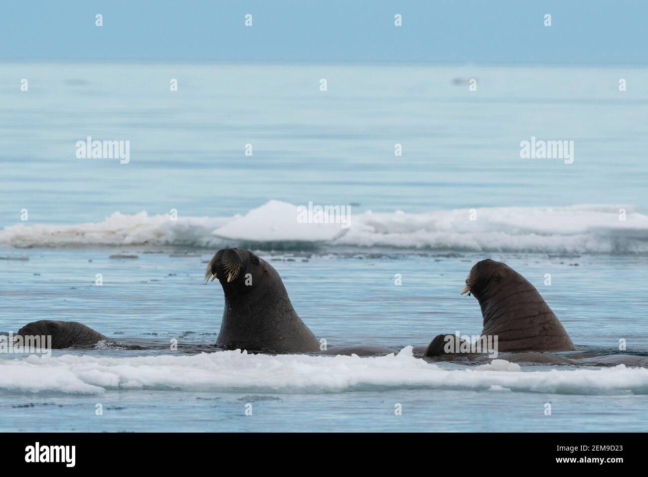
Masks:
[[[43,59],[645,65],[648,1],[3,2],[0,60]]]

